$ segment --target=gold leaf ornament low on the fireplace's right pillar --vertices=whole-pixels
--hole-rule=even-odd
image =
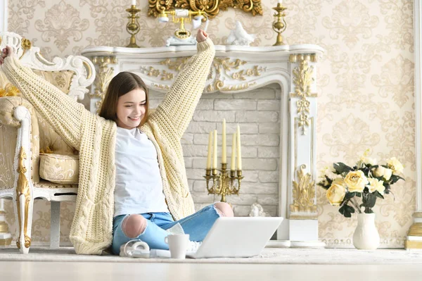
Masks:
[[[298,182],[293,181],[293,204],[290,204],[291,219],[315,219],[315,181],[312,175],[305,174],[306,165],[301,165],[297,171]]]

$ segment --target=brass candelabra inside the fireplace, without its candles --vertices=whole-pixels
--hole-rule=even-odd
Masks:
[[[227,164],[222,163],[222,169],[219,170],[217,175],[217,169],[206,169],[205,180],[207,180],[208,194],[221,195],[222,202],[226,202],[226,195],[239,194],[241,189],[241,181],[243,179],[242,170],[230,170],[227,169]],[[212,172],[212,173],[211,173]],[[212,180],[212,187],[210,187],[210,181]],[[237,183],[237,185],[236,185]]]

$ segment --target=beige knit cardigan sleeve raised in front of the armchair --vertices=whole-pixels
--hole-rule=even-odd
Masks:
[[[4,73],[20,89],[25,99],[70,146],[79,150],[82,113],[87,111],[67,94],[35,75],[20,64],[18,58],[7,57],[2,65]]]

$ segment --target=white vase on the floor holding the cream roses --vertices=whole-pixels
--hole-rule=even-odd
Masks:
[[[359,213],[353,234],[356,249],[375,250],[380,245],[380,235],[375,227],[375,213]]]

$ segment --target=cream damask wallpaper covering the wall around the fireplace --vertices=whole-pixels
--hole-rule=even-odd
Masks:
[[[271,28],[276,0],[262,0],[263,15],[222,11],[207,32],[225,44],[241,20],[257,35],[254,46],[274,44]],[[414,37],[411,0],[285,0],[288,44],[312,43],[326,49],[318,66],[317,161],[354,163],[370,148],[378,161],[396,156],[406,182],[392,187],[375,208],[382,246],[403,246],[415,209]],[[80,54],[87,46],[124,46],[129,0],[9,0],[8,30],[30,39],[44,56]],[[175,25],[146,17],[148,1],[138,0],[142,46],[163,46]],[[344,218],[317,190],[319,236],[330,246],[350,245],[356,218]],[[10,201],[7,220],[15,224]],[[62,241],[68,241],[73,204],[62,205]],[[34,206],[34,242],[49,241],[49,204]],[[11,227],[15,232],[15,228]]]

